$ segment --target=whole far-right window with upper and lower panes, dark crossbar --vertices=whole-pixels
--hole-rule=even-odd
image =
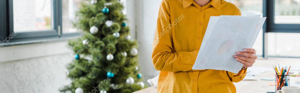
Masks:
[[[271,57],[300,57],[299,0],[266,0],[266,50]]]

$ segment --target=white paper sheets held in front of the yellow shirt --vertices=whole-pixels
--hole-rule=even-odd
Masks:
[[[192,69],[238,73],[243,64],[232,56],[253,47],[265,18],[261,15],[211,16]]]

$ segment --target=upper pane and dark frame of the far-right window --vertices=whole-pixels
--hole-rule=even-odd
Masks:
[[[266,0],[266,32],[300,32],[299,0]]]

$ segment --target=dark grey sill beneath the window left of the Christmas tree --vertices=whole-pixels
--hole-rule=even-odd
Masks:
[[[0,42],[0,47],[4,46],[13,46],[13,45],[22,45],[22,44],[32,44],[32,43],[41,43],[41,42],[51,42],[51,41],[64,41],[68,39],[79,38],[82,36],[82,33],[68,33],[63,34],[60,37],[42,37],[42,38],[23,38],[23,39],[10,39],[6,43]]]

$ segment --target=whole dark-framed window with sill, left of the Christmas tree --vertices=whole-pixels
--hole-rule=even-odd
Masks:
[[[62,8],[65,3],[78,5],[81,0],[1,0],[0,47],[80,35],[77,29],[68,26],[75,15],[67,15],[64,18],[67,23],[62,26],[62,10],[73,14],[78,10],[71,7],[72,12],[66,12],[69,9]]]

